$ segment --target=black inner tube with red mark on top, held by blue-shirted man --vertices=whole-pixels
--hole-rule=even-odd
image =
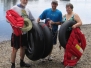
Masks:
[[[52,51],[52,48],[53,48],[52,33],[51,33],[50,29],[43,22],[40,22],[39,25],[43,31],[44,41],[45,41],[44,45],[43,45],[43,46],[45,46],[44,53],[41,58],[45,58],[50,54],[50,52]]]

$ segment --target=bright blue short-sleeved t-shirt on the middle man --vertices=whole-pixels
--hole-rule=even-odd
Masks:
[[[62,12],[56,9],[53,11],[51,8],[46,9],[43,11],[43,13],[39,16],[41,20],[49,18],[53,22],[62,22]],[[54,31],[57,31],[58,25],[52,25],[52,29]]]

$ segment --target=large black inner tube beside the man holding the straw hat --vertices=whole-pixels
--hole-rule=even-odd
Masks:
[[[29,45],[26,49],[26,56],[30,60],[38,60],[44,52],[44,37],[40,26],[36,22],[32,22],[32,30],[28,32]]]

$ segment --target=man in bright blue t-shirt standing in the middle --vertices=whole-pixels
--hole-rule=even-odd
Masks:
[[[57,41],[57,30],[58,30],[58,25],[61,24],[62,22],[62,12],[57,8],[58,6],[58,1],[53,0],[51,3],[52,8],[46,9],[43,11],[43,13],[39,16],[37,19],[37,22],[39,23],[40,20],[45,19],[50,19],[48,22],[51,25],[52,29],[52,34],[53,34],[53,44],[56,44]],[[49,55],[49,60],[51,59],[51,54]]]

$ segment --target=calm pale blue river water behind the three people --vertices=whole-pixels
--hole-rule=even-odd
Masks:
[[[13,5],[18,4],[20,0],[0,0],[0,42],[4,40],[9,40],[11,36],[11,26],[6,22],[5,12],[10,9]],[[70,0],[61,1],[58,0],[58,9],[62,11],[63,14],[66,13],[65,5],[71,2],[74,5],[74,12],[76,12],[83,24],[91,24],[91,0]],[[29,0],[27,5],[35,17],[42,13],[44,9],[51,8],[51,0]]]

